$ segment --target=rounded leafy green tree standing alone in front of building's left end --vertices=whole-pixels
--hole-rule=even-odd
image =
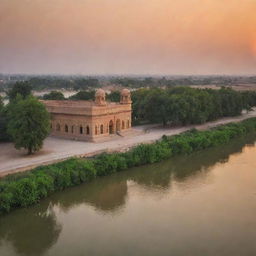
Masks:
[[[25,148],[28,154],[40,150],[50,130],[50,115],[45,106],[33,96],[21,96],[10,104],[7,132],[15,148]]]

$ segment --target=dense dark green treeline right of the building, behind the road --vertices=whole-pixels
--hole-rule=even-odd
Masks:
[[[174,87],[139,89],[132,92],[133,122],[200,124],[240,115],[256,105],[256,92]]]

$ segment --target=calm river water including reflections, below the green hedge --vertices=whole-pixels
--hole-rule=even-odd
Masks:
[[[133,168],[0,217],[0,255],[256,255],[255,138]]]

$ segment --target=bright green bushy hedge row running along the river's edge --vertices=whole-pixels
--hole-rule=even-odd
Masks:
[[[176,136],[163,136],[158,142],[141,144],[126,153],[102,154],[92,159],[71,158],[9,175],[0,181],[0,213],[35,204],[54,191],[88,182],[97,176],[159,162],[175,155],[191,154],[255,131],[256,118],[251,118],[207,131],[192,129]]]

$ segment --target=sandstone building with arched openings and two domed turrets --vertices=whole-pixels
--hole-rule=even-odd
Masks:
[[[96,141],[131,128],[131,94],[121,91],[119,103],[107,102],[99,89],[95,101],[43,100],[51,114],[51,135]]]

